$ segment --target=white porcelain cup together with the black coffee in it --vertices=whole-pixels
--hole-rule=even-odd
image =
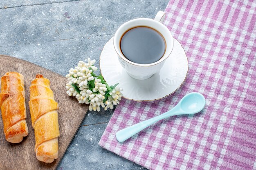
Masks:
[[[114,36],[118,60],[126,72],[138,80],[150,78],[164,65],[173,50],[173,36],[162,22],[159,11],[155,20],[138,18],[121,25]]]

